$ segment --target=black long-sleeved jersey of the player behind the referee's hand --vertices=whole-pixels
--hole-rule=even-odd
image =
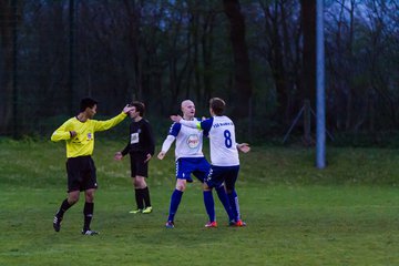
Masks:
[[[143,152],[145,154],[154,155],[155,141],[147,120],[142,119],[139,122],[133,121],[130,124],[130,137],[127,145],[122,151],[122,155],[132,152]]]

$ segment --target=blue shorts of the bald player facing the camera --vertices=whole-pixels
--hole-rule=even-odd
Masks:
[[[176,161],[176,178],[193,182],[191,174],[204,182],[209,173],[211,164],[205,157],[180,157]]]

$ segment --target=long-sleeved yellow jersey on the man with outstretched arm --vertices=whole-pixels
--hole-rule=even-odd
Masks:
[[[110,120],[86,120],[85,122],[71,117],[53,132],[51,141],[66,142],[66,157],[92,155],[94,150],[94,132],[109,130],[121,123],[126,116],[122,112]],[[71,137],[70,131],[76,132],[76,135]]]

